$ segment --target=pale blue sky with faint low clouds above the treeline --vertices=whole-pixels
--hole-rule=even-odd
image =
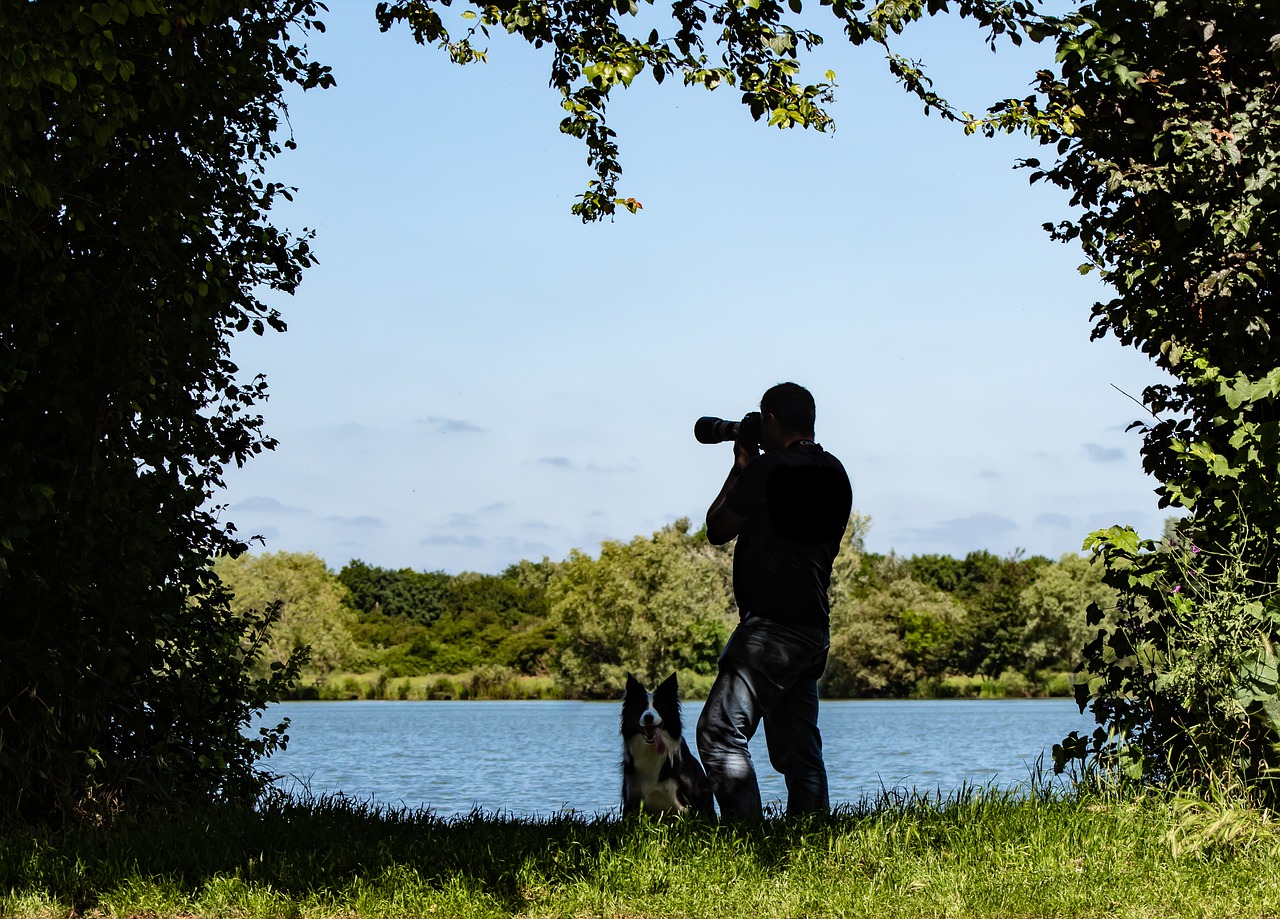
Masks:
[[[315,229],[320,264],[278,303],[288,333],[234,344],[280,445],[219,503],[265,549],[497,572],[696,523],[731,448],[694,420],[782,380],[813,390],[873,550],[1158,534],[1120,390],[1161,378],[1089,342],[1107,292],[1041,229],[1066,198],[1012,169],[1041,155],[1028,141],[925,118],[827,28],[806,72],[836,72],[835,134],[637,81],[611,124],[644,210],[584,227],[585,150],[558,131],[545,56],[495,35],[489,64],[458,68],[380,33],[372,5],[332,3],[308,44],[338,86],[294,97],[300,148],[275,164],[298,188],[276,220]],[[966,23],[909,38],[968,110],[1025,95],[1048,60],[993,55]]]

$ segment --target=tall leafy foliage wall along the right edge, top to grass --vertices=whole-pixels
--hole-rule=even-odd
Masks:
[[[1280,740],[1280,6],[1100,0],[1053,26],[1061,72],[973,127],[1027,128],[1056,150],[1025,165],[1071,192],[1079,216],[1050,229],[1115,291],[1093,308],[1094,338],[1174,378],[1143,393],[1143,465],[1161,506],[1190,512],[1178,543],[1202,550],[1128,527],[1091,536],[1121,604],[1083,663],[1106,730],[1061,754],[1156,781],[1254,778]]]

